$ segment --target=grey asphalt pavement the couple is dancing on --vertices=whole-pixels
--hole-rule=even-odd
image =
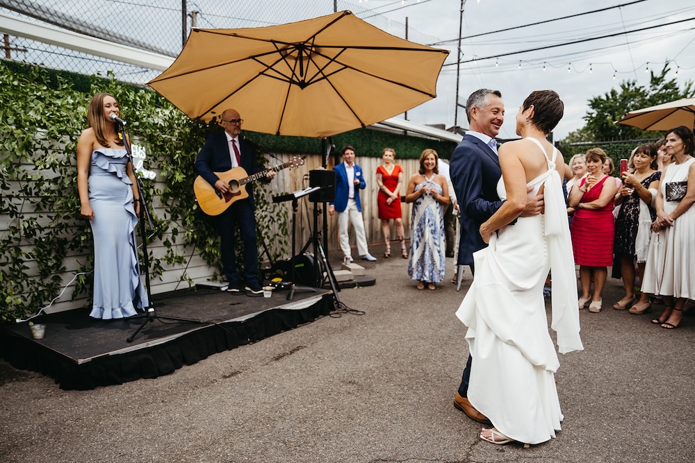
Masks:
[[[418,291],[407,260],[370,251],[377,262],[359,263],[376,285],[338,293],[363,315],[323,317],[168,376],[63,391],[0,361],[0,462],[695,461],[692,313],[666,330],[650,323],[662,306],[614,310],[622,289],[610,279],[603,311],[580,312],[585,350],[560,355],[562,431],[528,449],[495,446],[452,406],[470,271],[457,292],[447,259],[447,280]]]

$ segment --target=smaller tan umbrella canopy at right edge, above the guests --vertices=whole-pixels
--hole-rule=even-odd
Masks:
[[[667,131],[673,127],[695,127],[695,98],[684,98],[650,108],[628,112],[618,124],[643,131]]]

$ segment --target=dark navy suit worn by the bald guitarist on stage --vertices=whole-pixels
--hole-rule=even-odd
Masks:
[[[248,175],[262,171],[263,169],[256,162],[254,146],[246,140],[241,140],[241,137],[238,137],[238,142],[241,152],[240,167],[243,167]],[[214,173],[231,169],[231,156],[234,154],[230,154],[230,150],[226,133],[209,135],[195,160],[195,171],[210,185],[215,185],[219,178]],[[236,201],[217,216],[220,229],[222,267],[230,288],[238,288],[241,283],[239,271],[236,268],[236,254],[234,253],[236,226],[239,227],[239,235],[244,245],[245,283],[252,288],[260,287],[253,183],[246,185],[246,191],[249,194],[248,198]]]

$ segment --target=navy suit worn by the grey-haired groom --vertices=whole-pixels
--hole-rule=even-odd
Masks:
[[[451,155],[449,173],[461,209],[461,240],[459,265],[473,268],[473,253],[487,246],[480,236],[480,225],[502,206],[497,194],[497,183],[502,176],[500,160],[480,138],[464,135]],[[461,376],[459,394],[468,396],[471,376],[471,355]]]

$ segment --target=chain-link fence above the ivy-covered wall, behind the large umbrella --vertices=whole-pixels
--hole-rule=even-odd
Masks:
[[[406,26],[379,15],[374,3],[358,3],[359,0],[0,0],[0,12],[6,15],[31,19],[61,29],[97,37],[109,42],[127,45],[165,56],[178,56],[190,28],[243,28],[270,26],[300,21],[335,10],[351,10],[357,17],[378,28],[406,37]],[[393,3],[398,3],[397,1]],[[3,33],[3,31],[0,31]],[[79,74],[106,75],[113,72],[120,81],[144,84],[159,71],[129,65],[63,49],[40,41],[3,34],[3,56],[38,64],[53,69],[65,69]],[[439,37],[419,33],[412,28],[407,38],[420,44],[434,44]],[[449,61],[455,60],[451,49]],[[455,98],[455,74],[444,68],[437,88],[440,98]],[[411,120],[427,119],[425,103],[409,112]],[[451,112],[453,113],[453,103]],[[441,110],[439,110],[441,113]],[[452,120],[453,115],[445,119]]]

